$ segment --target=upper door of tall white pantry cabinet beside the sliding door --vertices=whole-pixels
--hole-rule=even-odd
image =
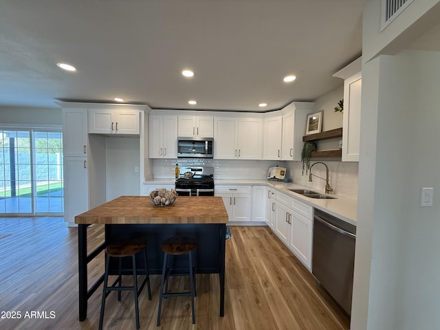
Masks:
[[[87,109],[63,109],[63,154],[87,154]]]

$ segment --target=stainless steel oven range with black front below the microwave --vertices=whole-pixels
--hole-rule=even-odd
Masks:
[[[181,167],[175,189],[179,196],[214,196],[214,168]]]

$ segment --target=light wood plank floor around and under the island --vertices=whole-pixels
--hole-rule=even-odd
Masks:
[[[231,228],[225,316],[219,316],[218,276],[199,274],[196,324],[191,323],[189,298],[178,297],[164,300],[156,327],[160,278],[154,275],[153,299],[148,300],[146,290],[140,295],[141,329],[349,329],[347,316],[269,228]],[[0,218],[2,234],[10,236],[0,239],[0,329],[98,329],[100,289],[89,299],[87,320],[78,321],[76,228],[67,228],[62,218]],[[102,237],[102,227],[92,226],[89,242],[98,245]],[[90,276],[103,273],[103,261],[99,256],[89,264]],[[171,289],[187,286],[186,279],[170,280]],[[120,302],[112,293],[104,329],[135,329],[133,307],[131,292],[122,292]],[[21,318],[8,319],[7,312],[21,312]]]

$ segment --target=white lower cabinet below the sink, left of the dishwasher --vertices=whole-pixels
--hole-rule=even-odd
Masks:
[[[311,270],[313,208],[277,190],[267,192],[266,222],[276,236]],[[269,217],[270,214],[270,217]]]

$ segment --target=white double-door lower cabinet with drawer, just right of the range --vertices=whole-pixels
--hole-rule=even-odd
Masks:
[[[215,196],[223,198],[229,221],[252,221],[251,186],[216,186]]]

